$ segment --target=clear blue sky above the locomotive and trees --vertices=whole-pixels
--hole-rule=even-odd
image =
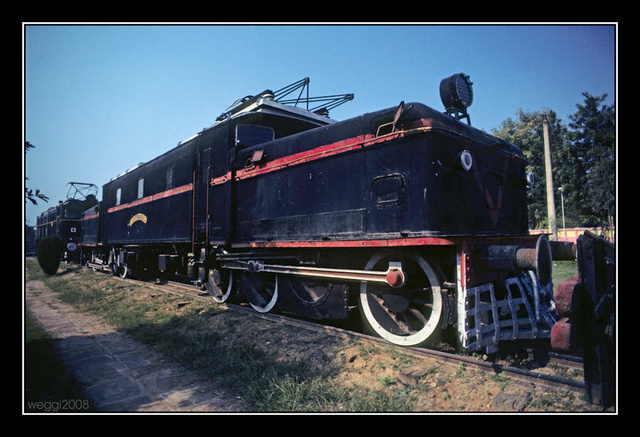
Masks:
[[[568,122],[582,92],[617,81],[615,23],[592,25],[64,25],[25,23],[27,186],[66,198],[99,187],[212,125],[232,102],[309,77],[311,95],[354,93],[337,120],[401,100],[443,110],[440,80],[473,82],[472,125],[519,108]]]

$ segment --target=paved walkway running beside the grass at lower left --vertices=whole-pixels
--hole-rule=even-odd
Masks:
[[[55,339],[59,356],[105,412],[236,412],[241,399],[61,302],[41,281],[27,281],[26,302]],[[79,410],[78,412],[81,412]]]

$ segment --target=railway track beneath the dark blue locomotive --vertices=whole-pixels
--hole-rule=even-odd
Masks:
[[[137,285],[145,285],[148,287],[152,287],[159,291],[163,291],[166,293],[183,295],[186,297],[190,297],[192,299],[209,302],[216,305],[222,305],[226,308],[229,308],[233,311],[244,312],[252,317],[262,318],[271,322],[277,323],[285,323],[291,326],[300,327],[303,329],[308,329],[316,332],[323,332],[328,335],[342,337],[342,338],[357,338],[359,340],[375,344],[378,346],[383,346],[385,348],[389,348],[391,350],[395,350],[399,353],[410,355],[416,357],[418,359],[435,359],[441,362],[447,362],[454,365],[464,365],[471,367],[473,369],[478,369],[487,374],[499,374],[504,378],[507,378],[511,381],[529,385],[529,386],[540,386],[553,390],[560,390],[565,392],[572,392],[581,394],[585,391],[585,384],[580,377],[579,379],[558,376],[554,373],[562,373],[565,375],[570,375],[573,373],[574,375],[582,374],[582,360],[579,357],[567,356],[556,354],[547,350],[540,349],[528,349],[528,353],[530,356],[533,356],[533,362],[542,361],[544,364],[536,364],[536,370],[517,367],[514,365],[510,365],[507,362],[500,361],[492,361],[487,359],[486,357],[477,358],[475,356],[464,355],[460,353],[451,353],[434,349],[426,349],[419,347],[400,347],[393,345],[381,338],[374,337],[362,332],[357,332],[353,330],[348,330],[345,328],[331,326],[326,324],[321,324],[314,321],[303,320],[299,318],[294,318],[287,315],[275,314],[275,313],[258,313],[249,307],[245,307],[238,304],[219,304],[216,303],[213,298],[206,292],[198,290],[191,284],[186,284],[182,282],[176,281],[162,281],[158,282],[157,280],[153,281],[143,281],[137,279],[122,279],[125,282],[129,282],[131,284]],[[540,356],[542,355],[542,358]],[[536,358],[537,357],[537,358]],[[532,361],[529,361],[532,362]]]

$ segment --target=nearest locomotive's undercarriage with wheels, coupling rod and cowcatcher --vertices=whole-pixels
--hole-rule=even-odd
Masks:
[[[202,248],[195,255],[191,245],[121,246],[94,251],[87,264],[123,278],[183,275],[216,302],[243,300],[262,313],[345,320],[357,311],[366,330],[394,344],[434,345],[444,337],[491,353],[502,341],[550,336],[553,287],[539,278],[550,278],[551,253],[541,241],[535,248]]]

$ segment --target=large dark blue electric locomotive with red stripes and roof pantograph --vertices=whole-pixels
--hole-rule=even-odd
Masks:
[[[340,122],[327,109],[351,94],[284,99],[308,83],[240,99],[106,183],[85,214],[89,265],[181,273],[259,312],[358,311],[399,345],[549,338],[552,245],[528,233],[526,160],[470,125],[469,77],[442,81],[445,112],[401,102]]]

